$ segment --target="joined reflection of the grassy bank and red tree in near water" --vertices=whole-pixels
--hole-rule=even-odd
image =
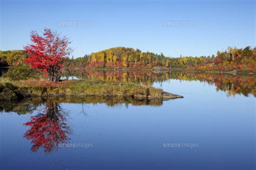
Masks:
[[[59,103],[80,103],[81,110],[85,114],[84,104],[105,103],[109,107],[124,104],[128,108],[129,104],[159,106],[163,104],[163,100],[138,100],[132,97],[30,98],[19,102],[0,102],[0,112],[16,112],[18,115],[24,115],[32,114],[37,110],[37,115],[31,116],[30,121],[24,123],[29,127],[24,138],[31,140],[32,152],[40,148],[43,148],[44,152],[50,152],[58,148],[58,144],[68,143],[70,139],[68,136],[72,133],[67,123],[68,112],[62,109]]]

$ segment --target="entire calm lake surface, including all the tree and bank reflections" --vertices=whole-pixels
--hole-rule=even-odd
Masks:
[[[144,83],[184,98],[2,102],[0,169],[255,169],[255,75],[78,70],[63,79]]]

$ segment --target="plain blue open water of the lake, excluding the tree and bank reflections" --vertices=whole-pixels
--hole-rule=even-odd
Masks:
[[[199,81],[154,83],[184,98],[151,106],[59,103],[68,112],[69,143],[31,151],[23,125],[43,110],[0,115],[0,169],[255,169],[255,97],[235,95]],[[194,148],[164,143],[196,143]]]

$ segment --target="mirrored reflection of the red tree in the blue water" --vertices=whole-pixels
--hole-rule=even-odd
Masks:
[[[44,114],[31,116],[30,122],[24,123],[30,126],[24,137],[32,140],[32,152],[36,152],[40,147],[43,147],[45,152],[50,152],[58,144],[65,143],[69,139],[68,134],[71,130],[65,123],[65,116],[66,112],[58,103],[48,102],[45,104]]]

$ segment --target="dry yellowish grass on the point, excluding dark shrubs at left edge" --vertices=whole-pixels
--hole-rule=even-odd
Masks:
[[[21,81],[3,79],[1,82],[10,82],[15,86],[26,88],[30,94],[35,96],[158,96],[163,92],[153,87],[111,86],[111,82],[98,79],[65,80],[56,83],[38,79]]]

